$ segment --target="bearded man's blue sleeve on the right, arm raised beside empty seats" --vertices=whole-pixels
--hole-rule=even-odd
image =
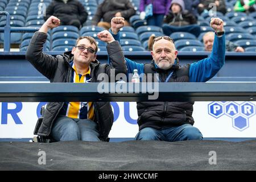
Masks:
[[[216,75],[225,63],[225,51],[225,34],[215,35],[210,56],[190,65],[189,82],[205,82]]]

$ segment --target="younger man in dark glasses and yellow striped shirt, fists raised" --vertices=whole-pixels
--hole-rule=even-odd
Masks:
[[[114,20],[118,18],[113,18]],[[98,46],[90,36],[77,39],[72,51],[53,57],[42,52],[49,28],[60,25],[60,20],[51,16],[38,32],[35,32],[26,52],[26,59],[51,82],[76,82],[89,84],[100,82],[97,77],[106,73],[110,81],[110,69],[115,75],[126,73],[121,46],[109,31],[97,34],[106,43],[112,65],[100,64],[96,59]],[[109,102],[49,102],[44,112],[38,135],[56,141],[86,140],[108,141],[113,124],[113,112]]]

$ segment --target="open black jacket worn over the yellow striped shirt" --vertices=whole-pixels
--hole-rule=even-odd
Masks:
[[[71,56],[68,54],[53,57],[42,52],[43,44],[46,42],[47,34],[35,32],[26,52],[26,59],[51,82],[72,82],[72,67],[69,65]],[[126,73],[125,58],[122,48],[117,41],[107,46],[108,54],[112,59],[112,65],[102,64],[96,60],[90,64],[92,82],[99,82],[97,76],[106,73],[110,79],[110,69],[115,68],[115,74]],[[70,52],[69,52],[70,53]],[[105,81],[105,80],[104,80]],[[110,81],[110,80],[109,80]],[[95,122],[98,123],[100,139],[107,140],[109,131],[113,124],[113,111],[109,102],[93,102],[95,111]],[[44,113],[42,125],[38,130],[38,135],[49,136],[53,122],[55,121],[64,102],[49,102]]]

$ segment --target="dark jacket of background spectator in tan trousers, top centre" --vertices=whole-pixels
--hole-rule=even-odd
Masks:
[[[105,0],[98,5],[96,14],[93,16],[92,24],[97,25],[103,18],[103,22],[111,22],[117,12],[122,14],[125,20],[129,20],[136,11],[129,0]]]

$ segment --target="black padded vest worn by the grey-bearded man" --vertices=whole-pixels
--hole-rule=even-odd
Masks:
[[[168,82],[189,81],[189,64],[180,67],[179,60],[177,60],[177,64],[174,67],[167,71],[156,69],[154,60],[152,60],[151,64],[144,64],[144,73],[154,74],[157,72],[163,81],[172,71],[173,74]],[[137,102],[139,130],[145,127],[162,129],[184,124],[193,125],[193,104],[194,102]]]

